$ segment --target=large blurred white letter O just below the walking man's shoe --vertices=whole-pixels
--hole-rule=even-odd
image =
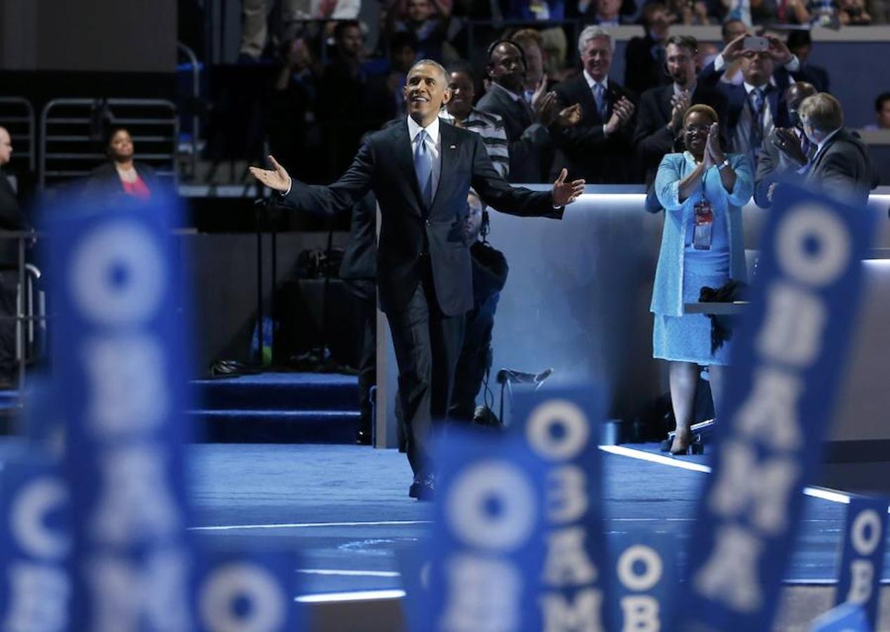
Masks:
[[[538,503],[526,475],[506,461],[485,461],[458,474],[446,498],[451,530],[466,544],[513,551],[535,528]],[[497,511],[492,511],[492,506]]]

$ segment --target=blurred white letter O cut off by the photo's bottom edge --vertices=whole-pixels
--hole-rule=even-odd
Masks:
[[[240,614],[236,600],[250,604]],[[211,632],[277,632],[284,629],[288,597],[263,567],[229,563],[212,572],[201,588],[201,620]]]

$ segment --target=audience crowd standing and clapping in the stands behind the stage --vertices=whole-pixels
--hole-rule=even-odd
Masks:
[[[839,0],[833,19],[885,23],[884,2]],[[817,20],[826,4],[815,0],[751,0],[750,27],[728,0],[394,0],[379,4],[376,29],[349,19],[358,2],[312,2],[272,13],[281,21],[274,32],[287,39],[274,45],[263,35],[263,47],[247,19],[253,4],[244,5],[241,61],[277,66],[265,133],[281,164],[306,182],[335,180],[363,134],[405,115],[405,77],[420,59],[451,70],[456,99],[443,116],[481,132],[511,182],[551,181],[554,165],[566,165],[589,183],[651,184],[660,159],[682,145],[685,109],[699,103],[725,121],[726,149],[756,170],[764,140],[789,126],[788,86],[804,81],[827,93],[831,85],[809,61],[809,27],[793,28]],[[616,77],[609,27],[630,23],[644,35],[627,42],[624,77]],[[671,36],[674,24],[721,25],[723,41]],[[768,48],[745,49],[740,37],[758,34]],[[885,110],[887,93],[876,127],[890,124]]]

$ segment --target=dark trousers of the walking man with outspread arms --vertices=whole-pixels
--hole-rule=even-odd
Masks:
[[[399,404],[406,452],[416,476],[433,471],[430,434],[444,421],[464,337],[464,316],[439,309],[432,274],[417,285],[408,304],[386,314],[399,366]]]

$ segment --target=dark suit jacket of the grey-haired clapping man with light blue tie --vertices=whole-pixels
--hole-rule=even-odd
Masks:
[[[642,174],[639,174],[634,154],[636,113],[627,125],[607,137],[603,134],[603,124],[606,121],[596,110],[594,93],[583,74],[557,85],[556,94],[563,106],[581,104],[580,123],[564,129],[554,127],[552,133],[554,143],[565,154],[569,179],[584,178],[588,184],[642,182]],[[612,104],[622,96],[636,104],[634,93],[610,79],[609,89],[606,91],[609,103],[607,120],[611,117]]]

